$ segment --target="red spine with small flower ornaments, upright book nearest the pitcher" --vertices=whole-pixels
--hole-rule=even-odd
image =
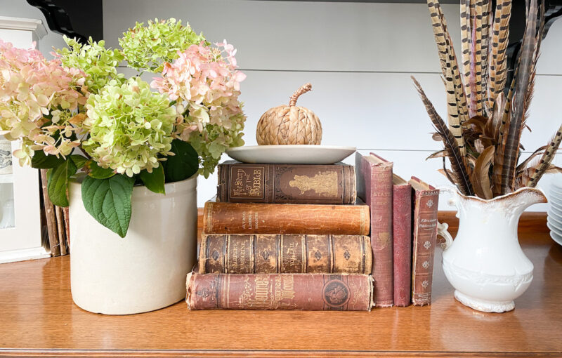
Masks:
[[[412,243],[412,303],[431,304],[433,256],[437,240],[439,190],[415,192],[414,240]]]

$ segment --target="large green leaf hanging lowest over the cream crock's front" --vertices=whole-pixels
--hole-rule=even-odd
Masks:
[[[125,237],[131,221],[131,195],[135,180],[126,175],[96,179],[86,176],[82,182],[84,208],[98,223]]]

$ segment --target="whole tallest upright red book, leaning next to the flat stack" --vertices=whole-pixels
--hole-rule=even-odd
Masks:
[[[374,305],[391,307],[393,291],[392,163],[376,154],[355,154],[357,195],[371,209]]]

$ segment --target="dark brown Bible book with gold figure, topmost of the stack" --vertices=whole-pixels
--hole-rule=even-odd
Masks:
[[[216,201],[230,203],[353,204],[355,171],[348,164],[218,165]]]

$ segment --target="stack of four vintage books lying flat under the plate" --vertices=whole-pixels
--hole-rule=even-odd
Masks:
[[[218,166],[188,305],[370,310],[369,206],[346,164]]]

